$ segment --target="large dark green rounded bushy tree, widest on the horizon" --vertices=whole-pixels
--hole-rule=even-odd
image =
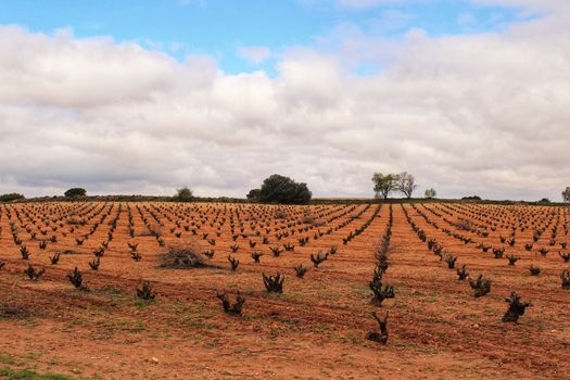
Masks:
[[[253,194],[257,189],[253,189]],[[250,191],[250,194],[252,193]],[[297,183],[289,177],[274,174],[263,181],[258,200],[267,203],[306,204],[313,193],[306,183]]]

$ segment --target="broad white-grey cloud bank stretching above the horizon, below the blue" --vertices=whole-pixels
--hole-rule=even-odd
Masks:
[[[407,170],[442,197],[559,199],[570,178],[567,25],[550,13],[502,33],[411,30],[397,45],[344,28],[326,52],[283,52],[275,77],[1,27],[0,192],[190,185],[243,197],[280,173],[317,195],[369,195],[375,170]],[[363,60],[383,68],[354,74]]]

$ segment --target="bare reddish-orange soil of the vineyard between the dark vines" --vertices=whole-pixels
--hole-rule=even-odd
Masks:
[[[391,208],[383,282],[394,286],[395,297],[378,307],[368,282]],[[491,278],[491,293],[473,297],[404,211],[427,240],[458,256],[456,267]],[[568,252],[569,208],[27,203],[0,205],[0,378],[24,370],[40,379],[570,378],[570,289],[560,279],[570,264],[559,255]],[[92,270],[88,263],[103,242],[107,249]],[[136,242],[138,262],[127,245]],[[160,267],[168,246],[188,242],[213,250],[206,259],[213,267]],[[274,256],[270,248],[286,243],[294,251]],[[504,246],[504,257],[481,244]],[[331,246],[338,252],[314,267],[309,255]],[[263,253],[259,264],[252,251]],[[230,253],[240,261],[237,271]],[[507,255],[521,258],[510,266]],[[24,274],[28,264],[46,268],[39,281]],[[304,279],[295,276],[297,264],[311,268]],[[540,276],[530,275],[531,264]],[[76,266],[89,291],[66,278]],[[277,271],[286,275],[282,294],[266,292],[262,280],[262,273]],[[137,299],[142,280],[152,282],[154,301]],[[243,314],[227,315],[216,293],[233,299],[238,290]],[[504,324],[511,291],[532,306],[518,324]],[[365,339],[378,329],[372,311],[389,312],[387,345]]]

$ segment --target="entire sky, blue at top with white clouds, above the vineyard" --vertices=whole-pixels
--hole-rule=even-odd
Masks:
[[[561,199],[566,0],[1,0],[0,193]]]

